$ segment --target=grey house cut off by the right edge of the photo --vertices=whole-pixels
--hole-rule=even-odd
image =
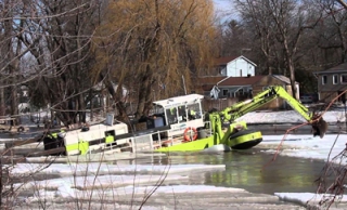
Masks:
[[[321,102],[331,102],[347,90],[347,63],[317,71],[314,76],[318,79],[318,97]],[[346,93],[338,99],[338,102],[345,100]]]

